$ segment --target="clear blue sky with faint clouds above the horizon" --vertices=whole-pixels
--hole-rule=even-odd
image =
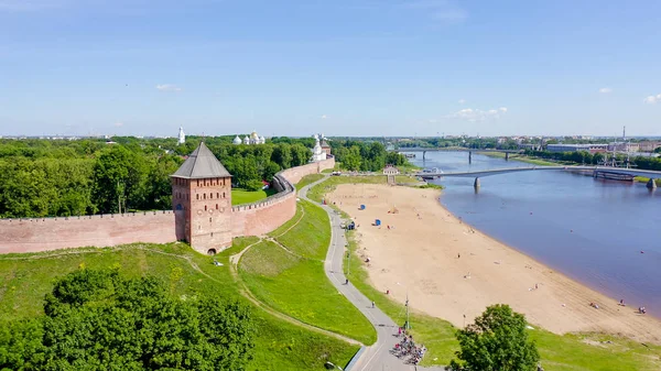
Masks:
[[[0,0],[0,134],[661,135],[661,1]]]

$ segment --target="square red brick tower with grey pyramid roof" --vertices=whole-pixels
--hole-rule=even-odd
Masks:
[[[204,142],[171,177],[177,240],[209,254],[231,245],[231,175]]]

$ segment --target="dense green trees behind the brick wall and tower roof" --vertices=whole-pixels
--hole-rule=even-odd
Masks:
[[[314,139],[274,138],[234,145],[205,138],[237,187],[262,187],[283,168],[306,164]],[[202,138],[0,140],[0,217],[47,217],[171,208],[170,175]],[[110,143],[110,144],[109,144]]]

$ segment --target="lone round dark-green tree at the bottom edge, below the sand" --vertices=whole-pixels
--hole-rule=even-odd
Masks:
[[[452,371],[533,371],[540,356],[528,339],[525,317],[508,305],[487,307],[475,324],[457,331],[460,350]]]

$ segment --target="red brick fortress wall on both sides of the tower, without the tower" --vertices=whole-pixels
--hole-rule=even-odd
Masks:
[[[334,166],[335,160],[330,157],[275,174],[273,185],[279,193],[257,203],[231,207],[232,237],[259,236],[282,226],[296,214],[296,188],[293,184],[305,175]],[[173,210],[0,219],[0,253],[176,240]]]

